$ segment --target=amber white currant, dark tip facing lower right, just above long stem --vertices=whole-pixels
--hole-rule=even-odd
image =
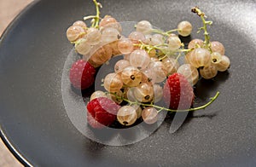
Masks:
[[[134,89],[133,94],[136,97],[137,101],[140,101],[140,102],[152,101],[154,97],[153,85],[150,83],[141,83],[136,87],[136,89]]]

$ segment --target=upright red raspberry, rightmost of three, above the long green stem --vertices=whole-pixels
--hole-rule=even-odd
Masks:
[[[164,86],[164,101],[171,109],[189,109],[194,97],[193,88],[182,74],[173,73],[168,77]]]

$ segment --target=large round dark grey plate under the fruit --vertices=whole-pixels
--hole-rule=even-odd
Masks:
[[[61,75],[73,48],[65,32],[73,20],[95,14],[91,1],[32,3],[9,26],[0,43],[1,137],[21,163],[34,166],[255,166],[256,3],[252,1],[102,1],[102,15],[117,20],[149,20],[164,30],[181,20],[200,27],[190,13],[197,5],[214,24],[212,40],[224,43],[228,72],[201,80],[199,100],[218,90],[217,101],[189,115],[168,133],[170,118],[143,141],[109,147],[77,130],[63,105]],[[192,38],[202,37],[194,29]]]

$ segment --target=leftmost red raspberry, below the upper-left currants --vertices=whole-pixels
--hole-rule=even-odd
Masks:
[[[77,60],[70,69],[69,79],[73,87],[77,89],[87,89],[94,83],[95,74],[96,69],[91,66],[89,62]]]

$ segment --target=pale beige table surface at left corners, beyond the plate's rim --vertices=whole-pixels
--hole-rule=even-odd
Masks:
[[[32,0],[0,0],[0,35],[9,25],[11,20],[20,13]],[[3,141],[0,139],[0,166],[20,167],[22,164],[9,152]]]

